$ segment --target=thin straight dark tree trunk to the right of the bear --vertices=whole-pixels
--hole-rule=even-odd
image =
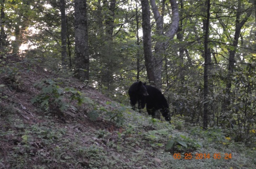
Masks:
[[[205,28],[205,69],[204,69],[204,129],[207,129],[208,126],[208,74],[209,74],[209,66],[211,62],[211,55],[208,49],[208,38],[209,38],[209,22],[210,22],[210,0],[207,0],[207,17],[204,20],[204,28]]]

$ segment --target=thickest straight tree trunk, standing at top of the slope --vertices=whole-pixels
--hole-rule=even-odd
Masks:
[[[89,46],[87,28],[87,1],[74,0],[74,38],[76,59],[76,77],[82,81],[89,80]]]

